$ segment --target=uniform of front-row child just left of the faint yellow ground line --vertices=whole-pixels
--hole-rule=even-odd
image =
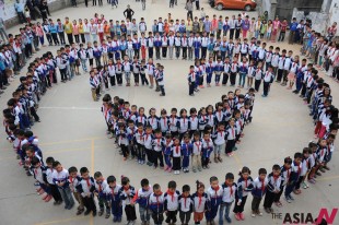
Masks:
[[[93,191],[95,190],[94,182],[94,178],[89,177],[86,179],[82,178],[79,183],[79,191],[83,198],[83,204],[86,209],[86,212],[92,211],[93,214],[96,213],[96,205],[93,197]]]

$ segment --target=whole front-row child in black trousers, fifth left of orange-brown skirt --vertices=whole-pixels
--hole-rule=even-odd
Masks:
[[[136,208],[132,204],[132,199],[136,194],[135,187],[130,186],[129,178],[124,176],[121,178],[121,186],[119,193],[125,205],[126,220],[128,224],[133,225],[137,220]]]

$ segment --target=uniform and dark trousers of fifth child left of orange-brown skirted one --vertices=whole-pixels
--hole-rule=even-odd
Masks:
[[[127,193],[129,191],[129,193]],[[128,189],[121,187],[119,190],[120,199],[122,200],[122,204],[125,205],[126,220],[128,222],[133,222],[137,220],[136,208],[131,205],[132,199],[136,194],[135,187],[129,186]]]

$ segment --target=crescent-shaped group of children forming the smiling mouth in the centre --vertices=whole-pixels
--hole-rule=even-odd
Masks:
[[[135,158],[154,168],[179,174],[188,173],[190,159],[192,171],[209,168],[210,155],[221,163],[224,152],[232,156],[244,135],[245,125],[252,122],[255,100],[254,90],[245,95],[241,90],[223,95],[215,106],[172,108],[171,111],[151,108],[149,116],[143,107],[130,105],[118,96],[103,97],[102,112],[107,123],[107,133],[116,138],[124,161]],[[179,114],[178,114],[179,112]],[[183,158],[183,159],[182,159]]]

